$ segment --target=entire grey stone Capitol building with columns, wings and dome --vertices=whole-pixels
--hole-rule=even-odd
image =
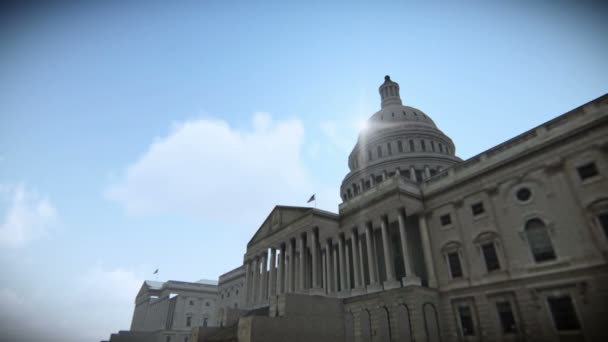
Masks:
[[[608,341],[608,95],[463,161],[379,92],[338,213],[277,205],[242,266],[145,283],[110,340]]]

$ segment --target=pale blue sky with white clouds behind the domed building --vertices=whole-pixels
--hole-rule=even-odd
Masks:
[[[463,159],[603,95],[605,13],[563,1],[2,8],[0,325],[107,338],[129,327],[154,269],[215,279],[275,204],[316,193],[337,211],[386,74]],[[87,328],[68,337],[74,326]]]

